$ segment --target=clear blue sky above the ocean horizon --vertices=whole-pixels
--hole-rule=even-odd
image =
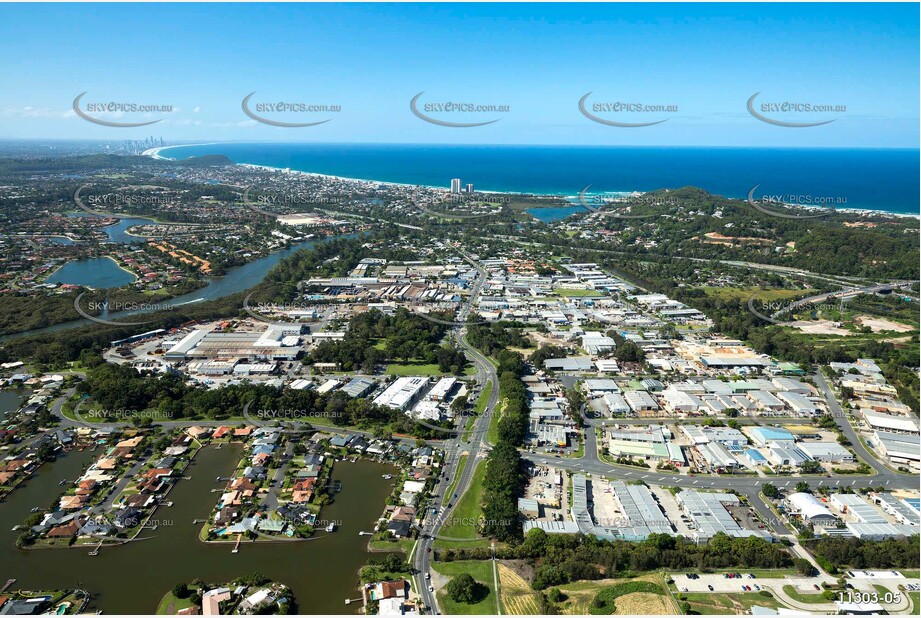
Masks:
[[[0,4],[0,138],[917,148],[918,23],[880,3]],[[84,92],[91,118],[160,121],[85,120]],[[250,93],[260,119],[328,122],[255,120]],[[755,93],[768,120],[833,122],[755,118]],[[88,107],[108,102],[172,110]]]

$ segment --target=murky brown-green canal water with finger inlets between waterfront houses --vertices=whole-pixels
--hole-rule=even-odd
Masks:
[[[239,445],[204,448],[188,468],[190,480],[179,481],[170,492],[172,507],[161,507],[154,519],[156,531],[144,531],[119,547],[104,547],[97,556],[88,548],[21,550],[11,529],[22,523],[34,506],[47,507],[62,487],[61,479],[73,481],[94,455],[75,451],[46,464],[37,476],[0,504],[0,581],[15,578],[13,589],[81,588],[93,600],[89,610],[106,614],[151,614],[160,598],[179,582],[202,579],[223,583],[240,575],[259,572],[290,586],[299,613],[356,613],[360,604],[345,605],[358,594],[358,569],[367,561],[368,537],[390,494],[383,474],[392,466],[369,461],[337,463],[333,480],[342,483],[335,502],[324,507],[321,518],[339,520],[333,533],[318,531],[315,540],[279,543],[245,543],[231,553],[230,544],[204,544],[198,540],[203,519],[219,495],[212,489],[223,484],[218,476],[229,475],[241,455]]]

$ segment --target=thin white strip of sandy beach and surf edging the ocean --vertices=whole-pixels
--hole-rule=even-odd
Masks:
[[[141,156],[149,156],[154,159],[160,159],[160,160],[175,161],[176,159],[169,159],[168,157],[164,157],[160,155],[160,152],[171,149],[171,148],[188,148],[188,147],[196,147],[196,146],[218,146],[218,145],[241,144],[241,143],[249,143],[249,142],[206,142],[206,143],[201,143],[201,144],[177,144],[174,146],[160,146],[157,148],[149,148],[145,150],[144,152],[141,153]],[[275,167],[271,165],[259,165],[259,164],[254,164],[254,163],[235,163],[235,165],[239,165],[242,167],[249,167],[253,169],[260,169],[260,170],[265,170],[265,171],[270,171],[270,172],[280,172],[283,174],[299,174],[299,175],[304,175],[304,176],[313,177],[313,178],[322,178],[325,180],[333,180],[333,181],[341,181],[341,182],[357,182],[357,183],[362,183],[362,184],[367,184],[367,185],[383,185],[383,186],[398,187],[398,188],[404,188],[404,189],[424,188],[424,189],[447,191],[447,188],[441,187],[441,186],[392,182],[392,181],[386,181],[386,180],[375,180],[373,178],[353,178],[350,176],[336,176],[333,174],[308,172],[304,170],[295,170],[291,168]],[[555,199],[563,199],[567,201],[578,199],[579,197],[579,195],[571,195],[571,194],[566,194],[566,193],[535,193],[535,192],[528,192],[528,191],[492,191],[489,189],[480,190],[478,191],[478,193],[495,194],[495,195],[524,195],[528,197],[548,198],[548,199],[555,198]],[[598,193],[586,193],[585,195],[628,196],[628,195],[644,195],[645,193],[648,193],[648,192],[647,191],[602,191]],[[746,201],[745,198],[731,198],[730,197],[728,199],[736,199],[741,202]],[[573,206],[578,206],[578,205],[579,204],[573,204]],[[802,204],[784,204],[784,206],[788,208],[801,209],[806,212],[828,210],[827,208],[824,208],[821,206],[804,206]],[[843,214],[853,214],[857,216],[877,215],[877,216],[887,216],[887,217],[908,217],[908,218],[921,220],[921,213],[915,214],[915,213],[905,213],[905,212],[893,212],[893,211],[883,210],[883,209],[877,210],[874,208],[856,208],[856,207],[855,208],[838,207],[832,210],[833,212],[841,212]]]

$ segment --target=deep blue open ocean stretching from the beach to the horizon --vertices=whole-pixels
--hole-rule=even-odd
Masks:
[[[249,163],[405,184],[574,196],[695,186],[745,198],[803,196],[836,208],[919,214],[916,149],[456,146],[226,143],[176,146],[161,156],[223,154]],[[826,202],[828,203],[828,202]]]

